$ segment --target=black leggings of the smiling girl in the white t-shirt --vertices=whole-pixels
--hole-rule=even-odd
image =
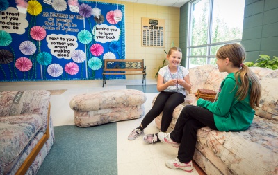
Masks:
[[[142,120],[141,125],[143,128],[147,127],[154,118],[159,116],[159,114],[163,111],[161,118],[161,131],[166,132],[173,117],[174,109],[184,102],[184,98],[186,96],[182,93],[177,92],[164,92],[158,94],[156,101],[154,102],[154,106],[151,110],[146,114],[145,118]]]

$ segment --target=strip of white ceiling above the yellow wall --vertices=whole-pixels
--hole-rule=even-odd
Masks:
[[[180,8],[190,0],[121,0],[121,1],[133,2],[133,3],[147,3],[147,4],[158,5],[158,6],[170,6],[170,7]]]

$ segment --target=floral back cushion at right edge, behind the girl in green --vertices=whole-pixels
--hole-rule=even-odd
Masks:
[[[256,110],[256,115],[261,118],[278,120],[278,78],[263,77],[261,83],[260,108]]]

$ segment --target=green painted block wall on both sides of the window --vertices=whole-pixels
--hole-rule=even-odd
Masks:
[[[181,6],[179,47],[186,55],[188,3]],[[247,57],[254,61],[259,55],[278,56],[278,0],[245,0],[243,38]],[[183,59],[182,65],[185,65]]]

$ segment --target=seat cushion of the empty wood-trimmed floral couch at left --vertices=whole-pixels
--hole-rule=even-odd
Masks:
[[[38,114],[0,117],[0,165],[3,174],[10,172],[41,128],[42,118]]]

